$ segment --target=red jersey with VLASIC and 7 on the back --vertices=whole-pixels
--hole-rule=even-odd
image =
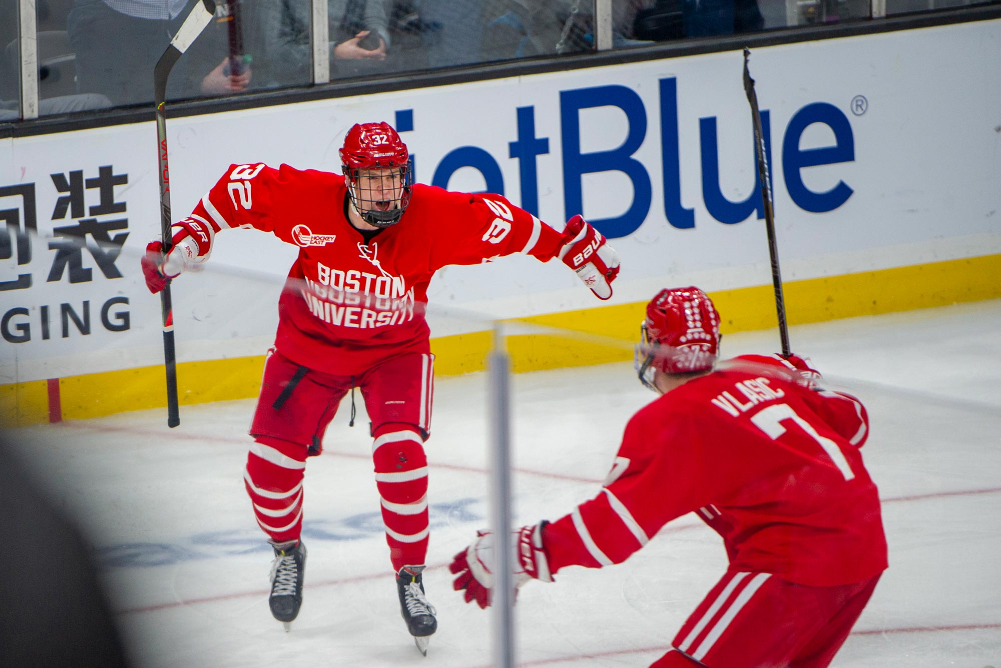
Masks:
[[[630,420],[601,493],[546,527],[553,572],[620,563],[689,512],[723,536],[732,569],[833,586],[887,567],[865,408],[765,359],[735,358]]]

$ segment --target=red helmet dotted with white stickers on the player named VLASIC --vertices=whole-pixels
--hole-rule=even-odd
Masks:
[[[636,370],[651,389],[654,371],[692,373],[712,369],[720,356],[720,314],[697,287],[664,289],[647,304],[636,349]]]

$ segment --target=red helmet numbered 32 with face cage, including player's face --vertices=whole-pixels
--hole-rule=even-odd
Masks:
[[[399,221],[410,203],[409,152],[388,123],[351,126],[340,149],[351,204],[376,227]]]

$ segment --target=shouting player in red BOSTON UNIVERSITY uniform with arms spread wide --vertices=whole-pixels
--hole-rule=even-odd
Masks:
[[[269,604],[295,619],[306,550],[302,479],[326,426],[357,387],[371,419],[372,459],[400,611],[426,651],[437,621],[424,596],[427,467],[433,355],[423,317],[427,285],[449,264],[525,253],[560,257],[601,299],[612,296],[619,258],[581,216],[558,231],[500,195],[412,184],[408,152],[386,123],[354,125],[340,149],[343,175],[281,165],[231,165],[174,223],[164,255],[143,258],[151,292],[204,262],[215,235],[238,227],[271,232],[299,255],[278,301],[250,434],[244,482],[257,523],[274,546]]]

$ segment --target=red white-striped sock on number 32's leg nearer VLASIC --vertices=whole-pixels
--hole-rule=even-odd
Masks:
[[[427,459],[413,425],[390,423],[375,430],[372,461],[382,503],[385,542],[392,569],[424,563],[427,554]]]

